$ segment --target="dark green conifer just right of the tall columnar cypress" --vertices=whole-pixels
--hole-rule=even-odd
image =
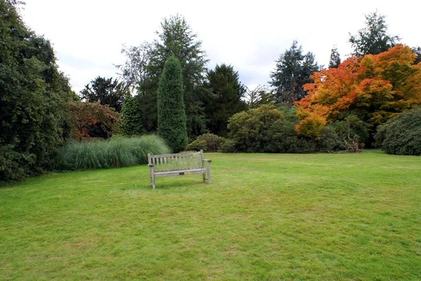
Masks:
[[[213,95],[205,102],[206,125],[210,132],[225,137],[228,119],[247,108],[242,100],[246,88],[232,65],[217,64],[215,70],[208,71],[207,78],[206,87]]]

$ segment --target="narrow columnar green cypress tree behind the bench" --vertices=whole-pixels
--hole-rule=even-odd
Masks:
[[[158,87],[158,134],[175,153],[187,146],[186,112],[180,61],[168,57]]]

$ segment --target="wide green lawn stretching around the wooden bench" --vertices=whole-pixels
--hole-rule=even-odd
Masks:
[[[421,280],[421,157],[206,153],[0,189],[0,280]]]

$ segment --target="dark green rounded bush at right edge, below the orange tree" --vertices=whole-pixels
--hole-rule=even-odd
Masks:
[[[389,154],[421,155],[421,107],[403,112],[377,128],[376,141]]]

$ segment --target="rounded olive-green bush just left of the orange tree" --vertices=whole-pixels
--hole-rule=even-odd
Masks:
[[[298,118],[293,109],[262,106],[234,114],[229,119],[229,137],[243,152],[304,153],[313,144],[295,132]]]

